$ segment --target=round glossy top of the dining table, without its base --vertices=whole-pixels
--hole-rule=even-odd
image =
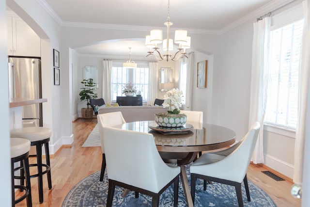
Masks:
[[[182,128],[159,127],[155,121],[129,122],[115,126],[125,130],[151,133],[159,152],[202,152],[228,147],[236,133],[213,124],[186,122]]]

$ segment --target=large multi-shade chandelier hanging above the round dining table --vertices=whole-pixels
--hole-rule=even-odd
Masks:
[[[167,26],[167,39],[162,38],[162,30],[151,30],[150,35],[145,36],[145,46],[150,48],[148,55],[153,55],[158,61],[170,59],[172,61],[177,61],[180,57],[186,57],[186,48],[190,48],[190,37],[187,36],[186,30],[175,30],[174,32],[174,43],[179,44],[178,51],[172,55],[169,51],[173,50],[173,39],[170,39],[169,28],[172,25],[170,21],[170,0],[168,0],[168,17],[167,22],[164,23]],[[160,54],[158,51],[158,44],[163,43],[163,50],[165,54]],[[182,51],[183,50],[183,51]],[[182,52],[181,52],[182,51]],[[156,53],[155,53],[156,52]],[[158,55],[158,56],[156,56]],[[146,56],[146,57],[147,57]]]

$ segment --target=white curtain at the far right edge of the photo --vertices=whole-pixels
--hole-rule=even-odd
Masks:
[[[304,7],[304,28],[302,37],[301,66],[299,71],[299,94],[298,94],[298,123],[296,127],[296,139],[294,150],[294,175],[295,183],[302,182],[303,163],[309,160],[304,159],[304,145],[306,136],[306,112],[307,96],[309,92],[310,76],[310,0],[303,1]],[[308,123],[309,127],[309,123]],[[309,137],[308,137],[309,138]]]

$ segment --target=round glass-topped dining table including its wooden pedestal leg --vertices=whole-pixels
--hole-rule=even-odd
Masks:
[[[213,124],[186,122],[184,127],[159,127],[155,121],[129,122],[114,126],[124,130],[151,133],[159,154],[165,162],[176,161],[181,167],[181,181],[188,207],[193,207],[185,165],[202,151],[225,149],[235,143],[236,133]]]

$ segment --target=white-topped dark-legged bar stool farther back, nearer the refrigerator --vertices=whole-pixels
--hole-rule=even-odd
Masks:
[[[24,127],[11,130],[11,137],[20,137],[31,142],[31,146],[36,146],[37,164],[30,164],[30,167],[37,166],[38,173],[30,175],[31,178],[38,177],[39,201],[43,203],[43,176],[47,174],[48,189],[52,189],[52,179],[50,173],[49,148],[48,142],[52,132],[47,127]],[[42,163],[42,145],[44,144],[46,164]],[[43,171],[42,167],[46,170]],[[23,181],[23,180],[22,180]]]

